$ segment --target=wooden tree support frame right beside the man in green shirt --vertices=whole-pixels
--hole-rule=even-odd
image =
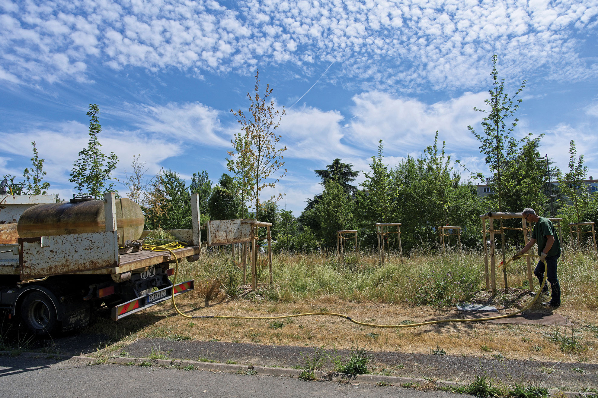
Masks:
[[[502,264],[507,263],[507,257],[505,254],[505,230],[519,230],[523,232],[523,240],[527,245],[529,242],[528,234],[531,232],[531,229],[527,226],[527,221],[523,217],[522,213],[505,213],[505,212],[488,212],[486,214],[480,215],[482,220],[482,239],[484,245],[484,267],[486,269],[486,289],[492,287],[492,295],[496,294],[496,259],[495,259],[495,244],[494,244],[494,237],[496,233],[501,234],[502,240]],[[506,220],[508,218],[521,218],[521,228],[507,228],[502,225],[502,220]],[[499,220],[501,223],[501,227],[499,229],[494,229],[494,220]],[[486,221],[488,221],[489,229],[486,229]],[[490,235],[490,270],[488,269],[488,234]],[[532,260],[529,257],[526,257],[527,261],[527,282],[529,282],[529,290],[533,291],[533,274],[532,274]],[[505,283],[505,293],[509,292],[508,282],[507,282],[507,269],[502,267],[502,276],[504,278]]]

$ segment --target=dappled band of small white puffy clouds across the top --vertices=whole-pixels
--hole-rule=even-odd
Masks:
[[[596,44],[596,0],[4,0],[0,11],[0,79],[17,84],[88,81],[96,65],[201,78],[288,64],[314,75],[337,60],[341,84],[469,88],[492,53],[506,76],[598,74],[584,50]]]

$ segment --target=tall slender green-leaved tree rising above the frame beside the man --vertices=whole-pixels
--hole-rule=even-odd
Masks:
[[[481,122],[484,132],[478,134],[473,127],[468,126],[467,128],[480,141],[480,153],[486,155],[486,165],[495,174],[490,186],[494,187],[495,192],[498,194],[498,209],[502,212],[504,184],[501,171],[505,164],[511,162],[517,155],[519,145],[523,142],[523,138],[517,139],[511,135],[519,119],[514,118],[509,127],[507,127],[507,120],[515,115],[515,111],[523,101],[519,98],[515,102],[515,97],[523,91],[527,81],[524,80],[513,95],[505,92],[505,79],[499,80],[498,78],[497,58],[497,55],[492,55],[493,67],[490,76],[492,76],[493,88],[488,91],[490,98],[484,101],[489,109],[484,110],[474,107],[475,111],[487,115]]]

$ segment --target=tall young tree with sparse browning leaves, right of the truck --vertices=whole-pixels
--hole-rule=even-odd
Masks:
[[[279,112],[274,107],[274,101],[269,100],[273,91],[270,85],[266,85],[266,91],[263,96],[260,95],[259,73],[259,70],[255,73],[255,95],[247,93],[249,112],[243,113],[240,109],[237,112],[230,110],[245,133],[243,139],[248,140],[246,144],[235,146],[235,151],[236,158],[247,161],[250,167],[248,186],[251,191],[252,208],[255,209],[256,214],[260,210],[261,191],[266,187],[274,188],[280,178],[286,174],[285,169],[278,177],[272,177],[277,175],[279,169],[285,165],[282,153],[285,152],[286,146],[277,147],[282,136],[276,135],[276,129],[280,125],[282,116],[285,115],[285,109],[283,107],[282,112]],[[236,168],[235,170],[237,171]],[[282,194],[272,196],[269,200],[280,198]]]

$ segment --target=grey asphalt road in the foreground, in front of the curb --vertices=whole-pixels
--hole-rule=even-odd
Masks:
[[[443,391],[181,369],[91,365],[75,360],[0,356],[0,397],[405,397],[455,398]]]

